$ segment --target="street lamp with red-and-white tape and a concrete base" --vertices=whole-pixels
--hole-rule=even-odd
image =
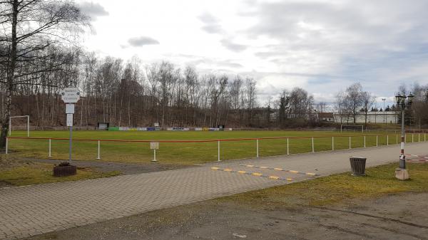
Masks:
[[[406,101],[407,98],[407,101]],[[397,108],[402,111],[402,137],[401,137],[401,152],[399,156],[399,168],[395,170],[395,177],[400,180],[409,179],[409,173],[406,169],[406,156],[404,155],[404,140],[406,132],[404,131],[404,111],[412,106],[414,95],[410,93],[405,95],[404,93],[397,93],[395,95],[395,101],[397,102]]]

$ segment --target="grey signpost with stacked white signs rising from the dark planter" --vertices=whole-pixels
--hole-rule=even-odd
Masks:
[[[71,146],[73,139],[73,114],[74,103],[80,99],[80,92],[78,88],[64,88],[61,91],[61,99],[66,103],[67,127],[70,127],[70,140],[68,146],[68,162],[71,163]]]

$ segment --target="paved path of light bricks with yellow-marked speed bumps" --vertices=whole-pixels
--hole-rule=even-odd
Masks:
[[[426,155],[427,147],[427,142],[412,143],[406,146],[406,151]],[[165,172],[1,188],[0,239],[18,239],[312,177],[271,167],[321,176],[347,172],[351,155],[367,157],[368,166],[382,165],[397,161],[399,146],[260,157]],[[268,176],[272,175],[281,179],[270,179]]]

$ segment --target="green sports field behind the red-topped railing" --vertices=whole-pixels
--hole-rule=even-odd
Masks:
[[[332,150],[332,136],[335,136],[335,150],[349,148],[349,135],[352,148],[364,147],[362,132],[317,132],[317,131],[225,131],[225,132],[173,132],[173,131],[75,131],[73,139],[99,140],[218,140],[235,138],[261,137],[307,137],[290,138],[289,153],[312,152],[311,136],[314,139],[315,152]],[[366,147],[387,145],[387,133],[370,132],[367,135]],[[14,131],[12,137],[24,137],[26,132]],[[33,131],[31,137],[67,138],[68,131]],[[419,138],[420,137],[420,138]],[[424,134],[413,135],[413,141],[424,141]],[[389,144],[395,144],[397,135],[389,133]],[[377,140],[376,140],[377,139]],[[399,138],[398,138],[399,140]],[[412,134],[407,135],[407,142],[412,142]],[[48,140],[9,140],[9,151],[13,155],[24,157],[46,158],[48,156]],[[96,160],[98,142],[73,142],[74,160]],[[54,159],[68,159],[68,140],[52,140],[51,152]],[[259,140],[259,155],[287,154],[287,139]],[[175,164],[195,164],[213,162],[218,159],[218,142],[161,142],[156,151],[158,161]],[[230,160],[256,156],[256,141],[220,142],[220,159]],[[149,142],[101,142],[101,160],[113,162],[150,162],[153,150]]]

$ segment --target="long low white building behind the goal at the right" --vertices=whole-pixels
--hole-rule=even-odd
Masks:
[[[401,112],[389,111],[389,112],[369,112],[367,113],[367,123],[398,123],[398,119]],[[335,122],[354,122],[354,118],[350,116],[348,119],[346,115],[340,115],[339,113],[334,113]],[[365,113],[357,113],[356,120],[357,123],[365,122]]]

